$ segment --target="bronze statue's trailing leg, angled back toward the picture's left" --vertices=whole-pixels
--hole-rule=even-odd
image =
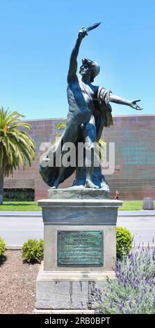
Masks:
[[[63,144],[65,144],[65,142],[75,143],[78,135],[79,135],[79,124],[74,119],[67,121],[65,133],[63,135]],[[62,151],[61,158],[63,158],[63,156],[66,153],[67,151]],[[56,181],[54,182],[54,186],[52,186],[51,189],[58,188],[58,185],[62,180],[65,170],[66,170],[65,166],[61,165],[61,167],[59,167],[58,177],[56,178]]]

